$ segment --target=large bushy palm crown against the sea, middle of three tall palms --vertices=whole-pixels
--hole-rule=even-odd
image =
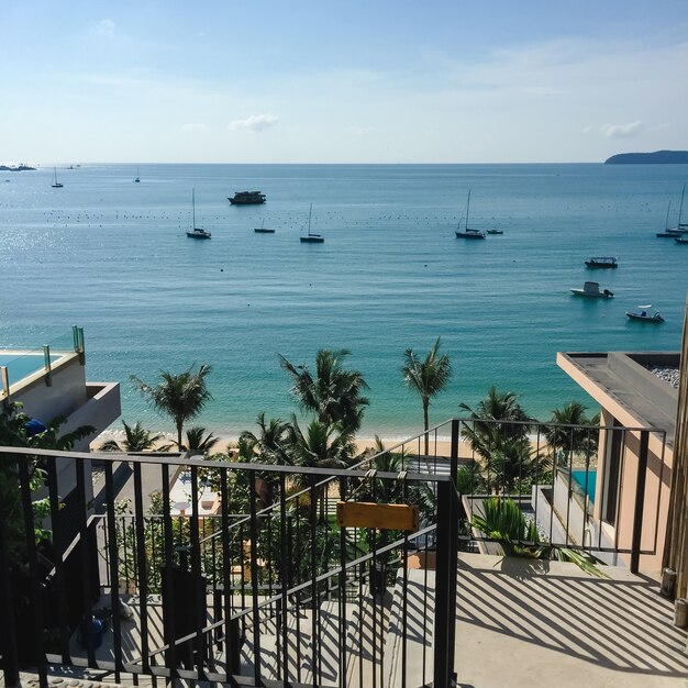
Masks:
[[[343,431],[356,432],[363,421],[364,407],[369,403],[362,396],[368,385],[358,370],[342,367],[349,354],[345,348],[321,348],[315,355],[315,377],[307,366],[295,366],[278,355],[281,367],[293,382],[291,393],[302,409],[315,413],[325,425],[336,423]]]

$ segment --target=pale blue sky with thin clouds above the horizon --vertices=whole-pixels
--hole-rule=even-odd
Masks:
[[[688,149],[688,0],[2,0],[0,164]]]

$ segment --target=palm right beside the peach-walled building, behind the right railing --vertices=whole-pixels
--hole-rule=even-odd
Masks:
[[[597,452],[599,414],[588,418],[587,410],[579,401],[572,401],[552,411],[553,424],[545,428],[545,437],[559,466],[568,466],[576,455],[589,458]]]

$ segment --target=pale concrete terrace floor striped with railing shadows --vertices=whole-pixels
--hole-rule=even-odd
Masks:
[[[686,631],[658,584],[604,567],[478,554],[459,561],[460,686],[688,687]]]

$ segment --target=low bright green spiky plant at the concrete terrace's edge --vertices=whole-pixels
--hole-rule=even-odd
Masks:
[[[512,499],[490,497],[482,500],[482,514],[475,514],[471,525],[489,540],[499,543],[506,556],[572,562],[588,574],[606,578],[588,554],[541,540],[534,521],[529,521]]]

